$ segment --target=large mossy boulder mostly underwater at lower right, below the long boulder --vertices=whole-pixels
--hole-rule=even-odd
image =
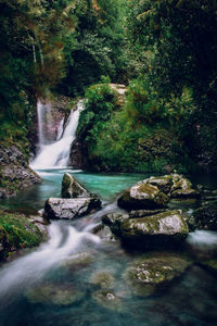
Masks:
[[[146,297],[179,277],[191,264],[175,254],[157,254],[136,261],[124,278],[136,296]]]

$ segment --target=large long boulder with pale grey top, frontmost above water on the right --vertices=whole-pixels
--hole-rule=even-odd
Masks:
[[[144,218],[128,218],[120,223],[120,237],[146,246],[183,240],[189,234],[180,211],[166,211]]]

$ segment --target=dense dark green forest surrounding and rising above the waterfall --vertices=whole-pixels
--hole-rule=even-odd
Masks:
[[[37,100],[85,96],[86,168],[216,171],[215,0],[1,0],[0,22],[1,145],[28,155]]]

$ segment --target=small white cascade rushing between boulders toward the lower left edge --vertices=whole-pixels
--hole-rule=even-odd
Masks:
[[[74,258],[84,239],[99,243],[100,238],[86,230],[77,231],[73,226],[58,222],[49,226],[50,240],[37,251],[9,263],[0,272],[0,299],[27,288],[39,280],[52,266],[60,266]]]

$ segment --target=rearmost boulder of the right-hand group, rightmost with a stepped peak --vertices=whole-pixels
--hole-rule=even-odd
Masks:
[[[200,192],[192,188],[192,184],[189,179],[182,175],[174,173],[171,174],[173,187],[170,190],[170,198],[173,199],[197,199]]]

